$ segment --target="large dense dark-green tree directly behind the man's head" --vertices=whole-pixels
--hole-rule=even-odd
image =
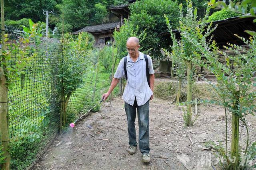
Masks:
[[[172,28],[176,29],[178,10],[178,4],[169,0],[141,0],[130,5],[129,22],[138,25],[138,33],[142,33],[146,29],[147,36],[141,41],[141,46],[145,50],[152,49],[151,56],[160,58],[162,57],[160,48],[168,48],[161,35],[168,31],[164,14],[171,20]]]

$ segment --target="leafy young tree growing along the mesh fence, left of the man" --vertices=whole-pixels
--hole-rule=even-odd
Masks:
[[[84,73],[89,63],[88,53],[92,50],[93,44],[93,35],[86,32],[75,36],[66,33],[62,38],[63,55],[57,75],[61,82],[58,89],[62,101],[60,121],[62,126],[66,125],[66,109],[70,96],[84,82]]]

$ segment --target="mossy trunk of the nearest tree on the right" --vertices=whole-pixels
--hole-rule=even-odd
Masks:
[[[236,101],[233,103],[233,109],[238,109],[239,92],[235,94]],[[232,137],[231,137],[231,169],[239,169],[239,117],[232,113]]]

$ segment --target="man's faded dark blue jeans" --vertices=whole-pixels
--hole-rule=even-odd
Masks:
[[[139,148],[142,154],[149,153],[149,100],[142,106],[137,105],[135,98],[134,105],[130,105],[125,102],[124,104],[127,124],[128,124],[128,135],[129,135],[129,145],[137,146],[136,142],[136,130],[135,130],[135,118],[136,118],[136,108],[138,111],[138,123],[139,123]]]

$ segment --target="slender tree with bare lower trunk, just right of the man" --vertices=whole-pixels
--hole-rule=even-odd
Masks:
[[[180,4],[180,10],[179,10],[180,25],[178,26],[177,30],[180,32],[181,40],[177,40],[173,35],[171,31],[172,27],[170,25],[170,20],[166,16],[166,24],[168,25],[168,28],[170,30],[171,37],[173,40],[172,49],[174,50],[174,55],[179,56],[184,61],[184,63],[186,63],[186,67],[187,67],[187,80],[188,80],[187,112],[184,115],[186,126],[191,126],[193,124],[192,109],[191,109],[192,76],[193,76],[192,66],[193,66],[193,61],[200,60],[200,57],[196,55],[195,53],[196,47],[194,47],[194,45],[192,45],[192,43],[189,41],[190,37],[185,35],[190,35],[191,37],[194,37],[194,36],[197,36],[198,33],[200,33],[198,31],[203,31],[204,28],[206,27],[206,23],[207,23],[206,20],[208,19],[209,12],[210,12],[210,8],[207,8],[206,16],[198,20],[197,10],[192,7],[191,1],[188,1],[186,15],[183,15],[182,4]],[[177,52],[178,54],[175,54]]]

